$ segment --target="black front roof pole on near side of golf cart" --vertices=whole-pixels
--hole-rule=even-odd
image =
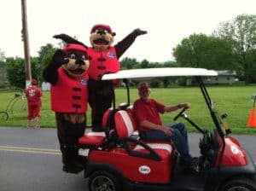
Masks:
[[[220,128],[220,125],[219,125],[218,119],[217,119],[217,117],[216,117],[216,114],[212,111],[211,99],[210,99],[209,94],[207,93],[207,89],[206,89],[205,84],[204,84],[203,81],[202,81],[202,78],[201,78],[201,77],[196,77],[196,80],[197,80],[197,82],[198,82],[198,84],[199,84],[199,87],[200,87],[201,92],[202,92],[202,94],[203,94],[203,96],[204,96],[204,98],[205,98],[205,101],[207,102],[207,106],[208,106],[209,111],[210,111],[210,113],[211,113],[212,120],[213,120],[214,124],[215,124],[216,127],[217,127],[218,134],[219,134],[219,136],[221,137],[221,140],[222,140],[222,143],[223,143],[223,148],[222,148],[222,151],[221,151],[221,155],[220,155],[220,157],[219,157],[219,159],[218,159],[218,168],[219,168],[220,165],[221,165],[222,159],[223,159],[224,148],[225,148],[225,146],[226,146],[226,145],[225,145],[225,141],[224,141],[224,133],[223,133],[223,131],[222,131],[221,128]]]

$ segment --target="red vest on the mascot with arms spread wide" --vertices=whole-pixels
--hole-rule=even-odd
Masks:
[[[88,55],[91,57],[90,66],[87,71],[90,78],[98,80],[105,73],[119,72],[120,64],[113,47],[101,52],[88,48]]]

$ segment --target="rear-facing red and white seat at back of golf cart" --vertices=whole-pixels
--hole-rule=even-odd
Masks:
[[[108,108],[108,110],[103,114],[102,127],[105,128],[105,131],[95,132],[91,131],[86,133],[84,136],[79,138],[79,144],[83,148],[98,148],[102,147],[106,141],[106,136],[108,133],[112,133],[113,130],[108,127],[110,125],[110,114],[113,112],[113,108]]]

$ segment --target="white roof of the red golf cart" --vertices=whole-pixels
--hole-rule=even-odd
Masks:
[[[122,70],[102,76],[102,80],[123,78],[157,78],[172,76],[218,76],[218,72],[204,68],[193,67],[160,67]]]

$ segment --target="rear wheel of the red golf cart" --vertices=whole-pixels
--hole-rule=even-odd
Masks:
[[[88,187],[90,191],[120,191],[119,179],[107,171],[96,171],[89,179]]]

